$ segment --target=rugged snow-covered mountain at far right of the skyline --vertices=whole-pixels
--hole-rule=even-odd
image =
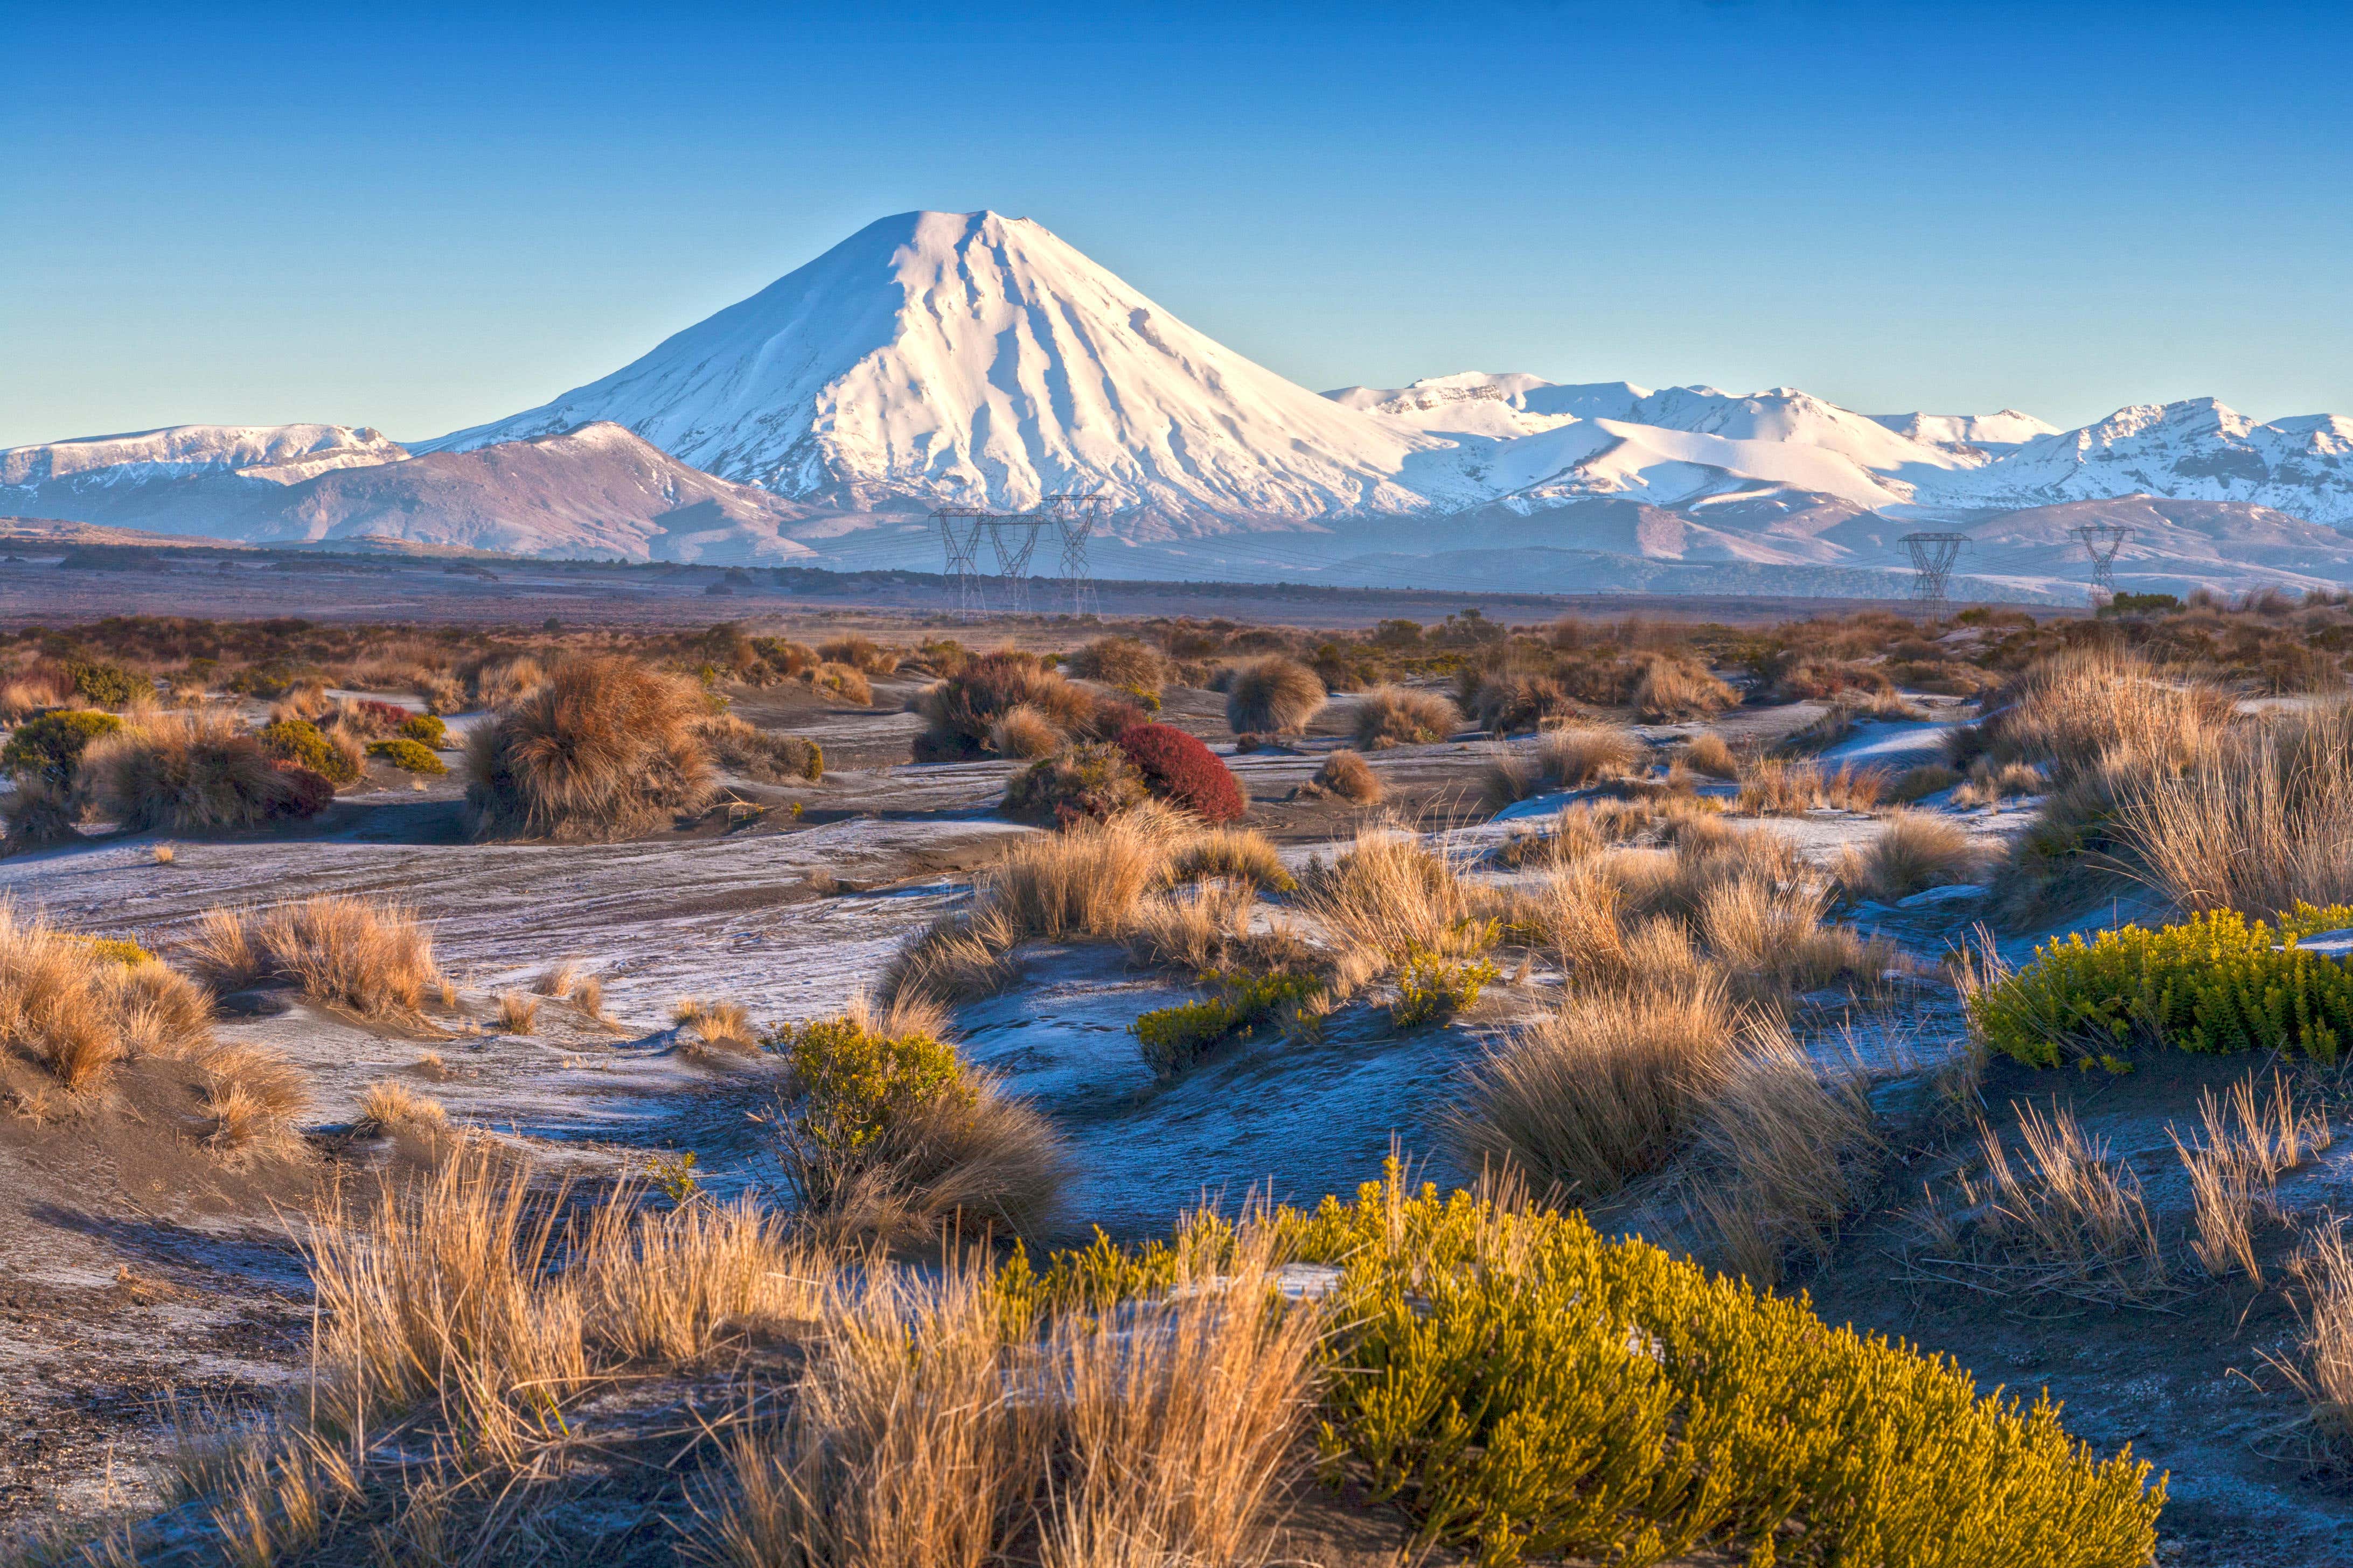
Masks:
[[[2353,524],[2353,418],[2308,414],[2264,425],[2212,397],[2137,404],[2035,437],[1925,498],[2024,508],[2132,494],[2242,501]]]

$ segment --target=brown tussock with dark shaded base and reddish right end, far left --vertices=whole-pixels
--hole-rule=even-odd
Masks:
[[[94,738],[82,750],[78,790],[134,832],[259,827],[315,816],[334,799],[332,785],[320,797],[304,771],[280,769],[252,731],[209,708],[144,715]]]

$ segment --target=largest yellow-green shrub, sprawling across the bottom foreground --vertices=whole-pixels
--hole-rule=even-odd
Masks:
[[[2099,1458],[2047,1401],[1972,1378],[1798,1298],[1760,1295],[1584,1215],[1409,1190],[1391,1164],[1355,1201],[1247,1220],[1278,1258],[1339,1265],[1318,1446],[1327,1481],[1395,1502],[1421,1544],[1525,1556],[1882,1568],[2141,1568],[2165,1481]],[[1009,1324],[1165,1288],[1174,1246],[1096,1237],[998,1272]],[[1195,1253],[1198,1255],[1198,1253]],[[1214,1255],[1214,1253],[1212,1253]]]

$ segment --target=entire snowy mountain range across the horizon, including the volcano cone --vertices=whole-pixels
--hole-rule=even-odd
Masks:
[[[612,376],[435,440],[176,425],[0,451],[0,512],[640,559],[932,564],[929,508],[1056,491],[1115,508],[1120,576],[1675,578],[1607,557],[1885,592],[1901,534],[1934,527],[1969,536],[1979,592],[2040,597],[2080,592],[2071,529],[2108,520],[2134,531],[2122,585],[2353,581],[2353,418],[2193,400],[2057,430],[1475,371],[1315,395],[988,212],[871,223]]]

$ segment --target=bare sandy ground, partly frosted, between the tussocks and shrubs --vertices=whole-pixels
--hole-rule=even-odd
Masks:
[[[974,867],[1031,832],[993,811],[1009,764],[904,762],[915,731],[901,712],[911,691],[878,682],[871,710],[802,691],[739,693],[736,712],[824,743],[824,783],[744,785],[746,806],[628,844],[468,844],[456,783],[412,790],[384,776],[296,837],[174,839],[172,865],[155,863],[153,837],[0,860],[0,893],[19,905],[165,952],[216,903],[313,891],[405,898],[433,922],[466,1001],[466,1016],[442,1020],[431,1037],[304,1004],[221,1023],[224,1039],[268,1044],[308,1074],[308,1161],[212,1171],[160,1147],[134,1105],[94,1126],[0,1119],[0,1523],[134,1507],[153,1495],[158,1399],[259,1403],[299,1375],[308,1295],[289,1241],[294,1215],[339,1173],[409,1157],[351,1131],[358,1095],[376,1079],[405,1081],[454,1119],[588,1173],[638,1164],[652,1150],[694,1150],[718,1192],[772,1185],[774,1166],[751,1121],[774,1093],[769,1072],[758,1060],[685,1051],[671,1004],[734,999],[762,1023],[835,1011],[906,933],[969,896]],[[1489,743],[1473,738],[1374,755],[1391,792],[1379,811],[1294,799],[1346,729],[1348,708],[1351,698],[1334,698],[1299,748],[1231,759],[1252,797],[1252,825],[1292,860],[1329,858],[1372,820],[1402,820],[1475,858],[1567,799],[1522,802],[1487,820],[1475,797]],[[1720,729],[1772,738],[1817,712],[1739,710]],[[1172,691],[1169,717],[1231,750],[1214,693]],[[1934,752],[1946,722],[1866,724],[1833,759],[1904,766]],[[1664,741],[1685,729],[1642,733]],[[2019,802],[1955,811],[1988,844],[2028,816]],[[1817,811],[1767,827],[1826,863],[1868,839],[1875,820]],[[1969,893],[1854,914],[1925,959],[1962,940],[1979,917],[1981,900]],[[2080,924],[2106,919],[2101,910]],[[2007,950],[2024,957],[2031,938],[2012,938]],[[501,1034],[496,992],[560,959],[605,978],[612,1025],[551,1001],[534,1034]],[[1127,1023],[1186,994],[1184,976],[1134,971],[1111,947],[1033,945],[1021,952],[1019,985],[960,1016],[969,1056],[1033,1095],[1073,1143],[1059,1239],[1082,1239],[1094,1225],[1120,1239],[1162,1232],[1205,1194],[1233,1204],[1252,1190],[1308,1201],[1348,1192],[1379,1171],[1391,1140],[1428,1161],[1433,1180],[1464,1175],[1433,1154],[1433,1114],[1449,1079],[1482,1034],[1555,997],[1558,978],[1537,971],[1497,985],[1449,1027],[1393,1032],[1386,1013],[1355,1006],[1315,1046],[1245,1041],[1174,1084],[1155,1084]],[[2353,1507],[2306,1476],[2280,1436],[2299,1403],[2261,1359],[2285,1354],[2294,1328],[2278,1288],[2257,1295],[2186,1274],[2195,1288],[2155,1309],[2108,1309],[1927,1279],[1904,1262],[1906,1211],[1965,1147],[1927,1131],[1927,1077],[1960,1034],[1951,987],[1899,987],[1894,1006],[1878,1013],[1824,999],[1800,1009],[1795,1025],[1817,1053],[1871,1063],[1875,1100],[1908,1140],[1873,1211],[1828,1267],[1793,1288],[1809,1288],[1831,1321],[1953,1352],[1981,1385],[2049,1387],[2094,1448],[2129,1441],[2172,1469],[2167,1566],[2353,1561]],[[1984,1100],[1998,1124],[2014,1114],[2012,1100],[2078,1105],[2141,1173],[2160,1227],[2179,1234],[2188,1192],[2165,1126],[2193,1119],[2200,1084],[2245,1070],[2242,1060],[2186,1056],[2092,1079],[1998,1067]],[[2348,1157],[2353,1143],[2292,1175],[2287,1201],[2353,1206]],[[1640,1206],[1598,1218],[1673,1234],[1673,1215]],[[2287,1241],[2273,1234],[2266,1246],[2278,1279]],[[1301,1530],[1294,1556],[1329,1563],[1386,1561],[1395,1535],[1393,1521],[1367,1523],[1322,1502]]]

